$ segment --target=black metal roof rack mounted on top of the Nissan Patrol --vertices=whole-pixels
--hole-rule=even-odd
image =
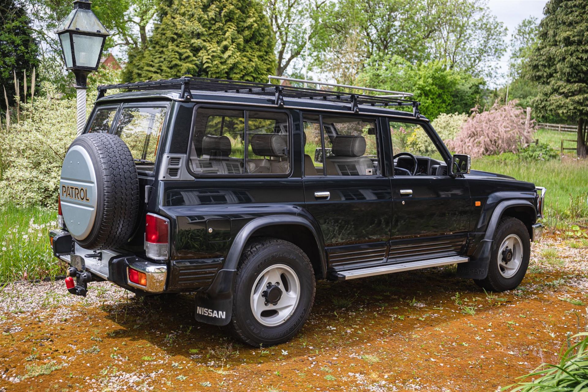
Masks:
[[[285,78],[283,76],[269,76],[269,80],[271,81],[272,79],[280,81],[315,84],[320,86],[329,86],[332,88],[358,90],[363,93],[350,93],[326,89],[323,90],[306,87],[283,86],[274,85],[271,83],[239,82],[228,81],[225,79],[193,78],[191,76],[183,76],[182,78],[176,79],[161,79],[159,81],[121,83],[117,85],[98,86],[98,97],[96,99],[102,98],[105,95],[106,91],[110,89],[126,89],[136,91],[179,89],[180,98],[186,101],[192,99],[192,91],[228,92],[268,96],[273,99],[274,105],[279,107],[284,106],[284,98],[326,100],[330,102],[350,103],[350,109],[354,113],[359,113],[359,106],[362,105],[412,106],[413,115],[416,118],[419,118],[420,116],[420,103],[416,100],[410,100],[405,98],[412,96],[412,93],[372,89],[360,86],[339,85],[336,83],[305,81],[304,79]],[[368,91],[383,92],[387,93],[387,95],[367,95],[365,92]]]

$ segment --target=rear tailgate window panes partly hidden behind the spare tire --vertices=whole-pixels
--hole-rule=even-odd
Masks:
[[[116,108],[99,109],[89,132],[109,132]],[[152,172],[165,119],[165,107],[123,108],[113,133],[126,143],[138,170]]]

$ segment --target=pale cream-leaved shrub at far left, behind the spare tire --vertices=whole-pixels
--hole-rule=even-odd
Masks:
[[[4,135],[0,206],[56,206],[59,173],[65,153],[76,136],[75,99],[48,94],[21,105],[26,120]]]

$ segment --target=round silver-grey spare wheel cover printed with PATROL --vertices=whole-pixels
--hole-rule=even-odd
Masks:
[[[102,185],[96,182],[92,157],[82,146],[72,146],[61,167],[59,195],[65,225],[76,240],[86,239],[94,227],[98,208],[97,189]]]

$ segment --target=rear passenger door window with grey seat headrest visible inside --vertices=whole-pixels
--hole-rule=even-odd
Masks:
[[[308,154],[308,150],[311,148],[309,140],[315,145],[314,143],[318,139],[317,148],[320,150],[315,152],[313,158],[317,171],[322,166],[328,176],[374,176],[379,174],[374,120],[330,115],[305,115],[304,122],[305,154]],[[322,138],[325,140],[324,149],[320,145],[322,143],[320,133],[318,138],[316,136],[318,133],[316,124],[320,123],[322,123]],[[305,175],[309,175],[306,166],[305,162]]]

